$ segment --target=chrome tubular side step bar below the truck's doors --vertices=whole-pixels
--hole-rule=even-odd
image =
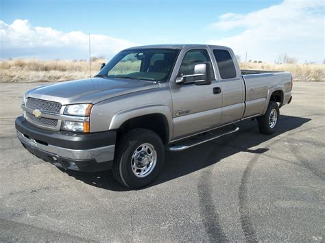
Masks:
[[[182,151],[185,149],[189,149],[192,146],[196,146],[199,144],[203,144],[204,142],[208,142],[210,140],[214,140],[216,138],[220,138],[222,136],[228,135],[230,133],[234,133],[239,130],[239,127],[222,127],[220,129],[216,129],[215,131],[209,131],[207,133],[203,133],[202,135],[195,136],[194,138],[189,138],[188,140],[184,140],[182,142],[178,142],[176,144],[171,144],[167,146],[168,151]]]

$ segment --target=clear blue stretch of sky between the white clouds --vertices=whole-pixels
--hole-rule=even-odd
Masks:
[[[1,19],[12,23],[27,19],[33,26],[51,27],[60,31],[83,31],[147,43],[161,39],[202,43],[236,34],[211,31],[207,25],[227,12],[245,14],[267,8],[281,1],[52,1],[1,0]],[[188,40],[188,41],[186,41]]]

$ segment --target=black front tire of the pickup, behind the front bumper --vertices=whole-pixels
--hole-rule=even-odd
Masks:
[[[139,147],[142,148],[142,144],[149,144],[148,146],[152,146],[153,151],[151,154],[147,152],[150,151],[150,149],[148,148],[147,151],[143,151],[143,153],[145,153],[145,155],[147,155],[149,159],[152,159],[151,155],[154,155],[154,153],[156,153],[156,159],[152,159],[152,161],[156,162],[154,163],[149,160],[149,164],[154,164],[154,166],[149,167],[149,169],[147,170],[147,175],[142,175],[143,177],[139,177],[141,175],[136,174],[139,174],[138,171],[140,169],[133,170],[132,166],[134,166],[135,162],[139,161],[134,159],[134,155],[139,154],[136,149],[138,149]],[[145,150],[144,148],[145,146],[143,146],[143,150]],[[139,156],[137,158],[139,158]],[[133,129],[123,134],[117,142],[117,151],[115,153],[115,161],[112,167],[112,173],[115,179],[122,186],[126,186],[132,189],[143,188],[144,186],[147,186],[152,183],[158,177],[160,171],[163,168],[164,159],[164,145],[160,137],[156,133],[147,129]],[[147,166],[149,166],[149,164]],[[143,170],[145,171],[145,166],[141,168],[144,168]]]

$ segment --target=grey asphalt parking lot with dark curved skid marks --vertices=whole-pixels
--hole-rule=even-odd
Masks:
[[[0,241],[324,242],[324,84],[295,82],[272,136],[245,120],[230,136],[168,152],[142,190],[27,152],[14,119],[40,84],[0,84]]]

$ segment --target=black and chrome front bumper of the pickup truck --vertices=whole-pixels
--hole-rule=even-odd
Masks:
[[[56,166],[71,170],[99,171],[112,168],[115,131],[73,133],[47,131],[16,118],[19,140],[32,154]]]

